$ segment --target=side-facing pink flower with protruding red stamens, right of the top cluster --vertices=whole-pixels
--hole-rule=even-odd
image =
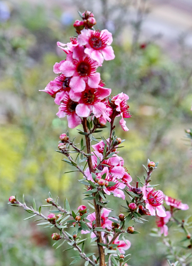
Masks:
[[[111,115],[110,118],[112,117],[115,118],[116,116],[118,117],[119,115],[121,115],[122,119],[119,121],[119,124],[121,125],[124,131],[128,131],[128,128],[126,127],[126,121],[124,120],[124,118],[131,117],[128,110],[129,106],[127,105],[128,99],[129,96],[125,93],[120,93],[111,99],[111,105],[112,108],[114,109],[114,113]]]

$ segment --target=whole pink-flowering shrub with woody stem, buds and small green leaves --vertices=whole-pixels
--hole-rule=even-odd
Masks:
[[[43,91],[55,99],[59,105],[57,115],[67,118],[69,128],[82,124],[82,130],[78,129],[82,135],[81,143],[75,144],[69,132],[66,132],[60,135],[58,152],[65,155],[62,159],[65,163],[76,168],[74,171],[82,173],[79,182],[85,186],[83,200],[88,202],[77,210],[71,210],[67,199],[62,207],[58,198],[54,200],[49,193],[48,205],[40,206],[39,210],[36,209],[35,200],[33,207],[27,207],[24,197],[21,203],[16,196],[11,196],[9,204],[21,206],[30,213],[31,216],[26,219],[40,216],[36,221],[45,220],[37,225],[55,228],[52,239],[56,244],[59,243],[57,247],[67,240],[69,249],[76,251],[71,264],[78,265],[80,260],[85,260],[85,266],[127,265],[130,254],[125,253],[131,246],[129,234],[139,234],[137,223],[145,223],[147,220],[144,217],[152,215],[156,216],[159,228],[155,234],[162,235],[169,248],[169,259],[173,261],[173,264],[170,261],[169,264],[187,265],[191,260],[191,252],[179,254],[166,237],[170,221],[171,224],[175,222],[185,234],[185,248],[191,248],[191,235],[187,229],[189,224],[175,217],[176,211],[187,210],[188,205],[165,196],[155,188],[158,185],[151,185],[151,176],[158,163],[148,160],[147,167],[143,165],[146,171],[144,178],[138,177],[137,181],[132,182],[124,160],[119,156],[119,148],[124,140],[117,137],[114,131],[114,121],[119,118],[122,129],[128,131],[125,119],[131,117],[127,103],[129,97],[123,92],[110,97],[111,89],[105,87],[97,72],[104,60],[113,60],[115,57],[111,47],[112,34],[108,30],[93,28],[96,24],[93,13],[85,11],[81,18],[81,21],[74,23],[78,36],[70,38],[67,44],[57,43],[66,54],[66,59],[55,63],[53,71],[57,77]],[[98,137],[107,121],[110,123],[108,138]],[[111,214],[110,197],[125,201],[123,213]],[[91,204],[94,211],[87,207]],[[46,217],[41,213],[41,207],[50,205],[55,210],[50,210]],[[98,252],[93,252],[90,247],[89,253],[85,253],[85,246],[97,246]]]

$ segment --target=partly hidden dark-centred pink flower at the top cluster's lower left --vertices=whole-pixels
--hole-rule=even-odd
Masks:
[[[65,98],[61,101],[59,112],[56,114],[59,118],[67,116],[68,126],[70,128],[74,128],[81,124],[81,118],[75,112],[77,104],[78,102],[72,101],[68,93],[66,93]]]

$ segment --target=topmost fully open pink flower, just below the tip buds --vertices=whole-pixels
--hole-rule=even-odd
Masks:
[[[86,47],[85,53],[99,64],[102,64],[104,59],[112,60],[115,58],[114,51],[110,46],[112,40],[112,34],[108,30],[84,29],[78,36],[78,42]]]

